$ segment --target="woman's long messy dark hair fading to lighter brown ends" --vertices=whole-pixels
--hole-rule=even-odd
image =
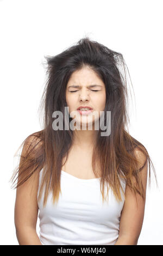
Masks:
[[[101,136],[102,130],[99,128],[92,155],[92,168],[95,176],[97,176],[96,159],[99,159],[100,163],[103,200],[105,199],[105,184],[110,186],[117,200],[122,200],[120,179],[127,182],[135,194],[137,192],[145,198],[140,172],[148,161],[150,180],[151,164],[153,170],[154,166],[145,146],[129,135],[127,65],[122,54],[86,37],[58,55],[46,57],[46,60],[47,83],[40,104],[40,109],[44,111],[44,127],[41,131],[29,135],[21,144],[21,146],[26,145],[26,150],[22,151],[20,164],[12,175],[13,185],[17,180],[16,187],[21,186],[36,170],[43,169],[39,200],[45,188],[44,206],[49,192],[53,193],[53,203],[58,202],[61,192],[62,160],[65,156],[67,157],[68,150],[72,146],[73,131],[71,129],[53,130],[52,114],[54,111],[61,111],[65,118],[67,82],[73,71],[89,66],[105,84],[104,111],[105,113],[111,111],[111,133],[109,136]],[[68,121],[71,121],[70,117]],[[136,150],[144,156],[142,166],[137,161]],[[136,184],[131,179],[133,176]]]

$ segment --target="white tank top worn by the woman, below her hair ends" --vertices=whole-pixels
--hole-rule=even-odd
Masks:
[[[39,188],[41,176],[42,170]],[[109,189],[108,203],[103,203],[100,179],[79,179],[61,170],[58,204],[53,204],[52,193],[45,208],[43,194],[38,202],[42,245],[114,245],[118,239],[124,196],[121,191],[122,201],[117,202]],[[121,185],[125,191],[126,184],[122,180]]]

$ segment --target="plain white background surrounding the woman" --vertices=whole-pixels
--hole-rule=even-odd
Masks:
[[[135,98],[131,136],[148,150],[158,177],[147,190],[138,245],[163,245],[162,1],[0,1],[1,245],[17,245],[15,190],[9,179],[22,141],[39,131],[44,56],[60,53],[85,35],[121,52]],[[135,107],[136,106],[136,107]],[[153,172],[153,171],[152,171]]]

